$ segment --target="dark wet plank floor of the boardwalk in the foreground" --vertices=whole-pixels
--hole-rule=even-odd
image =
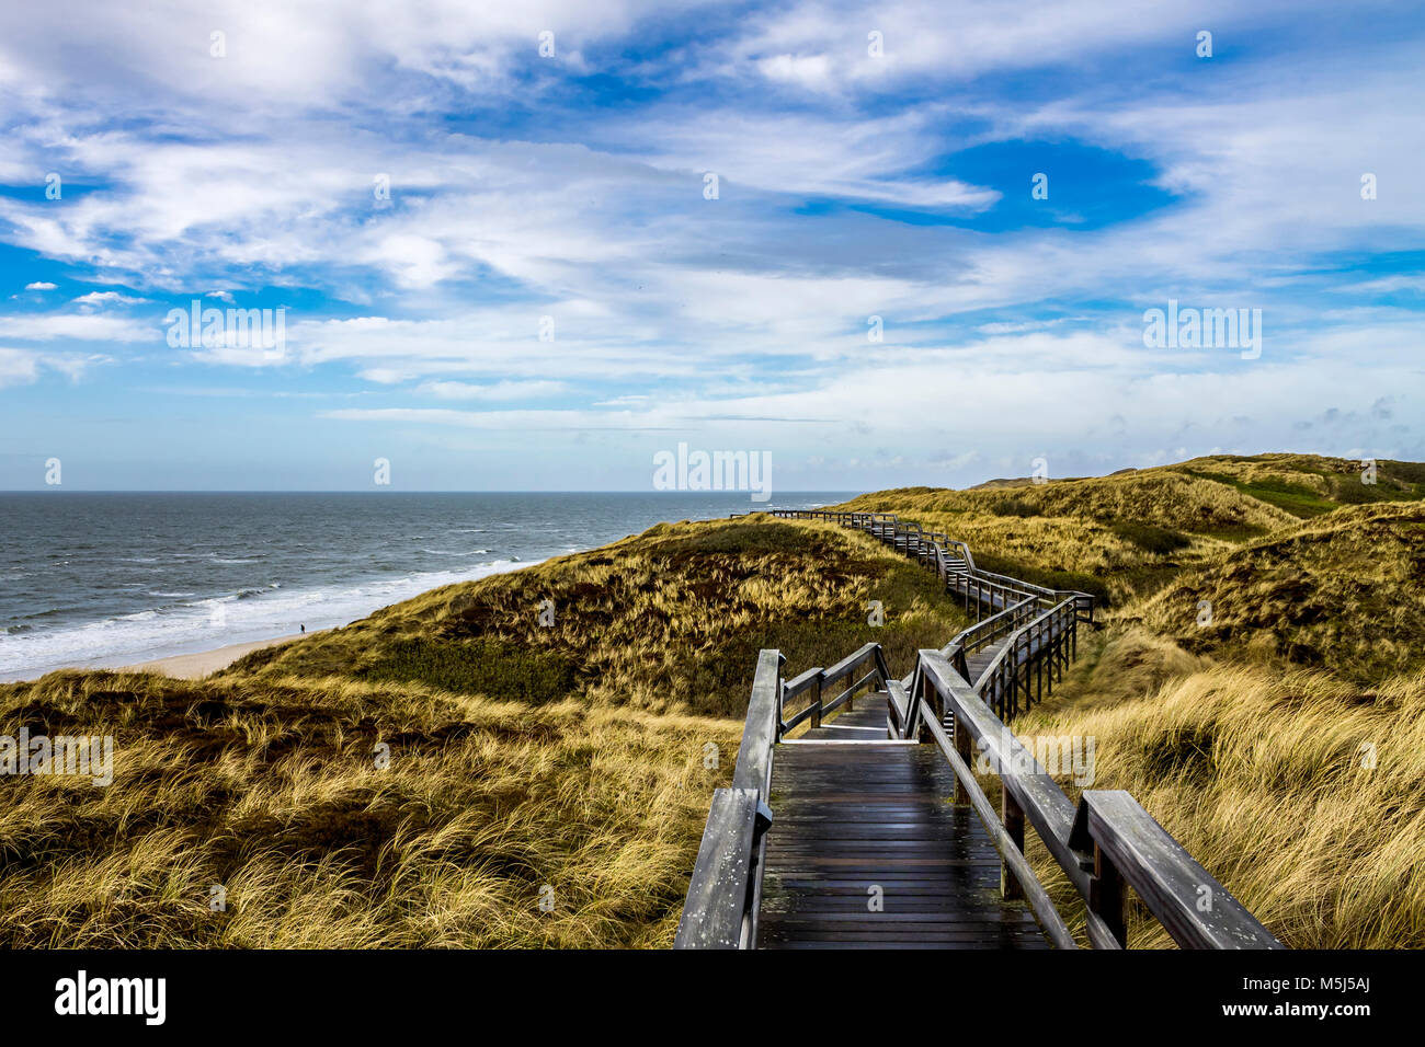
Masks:
[[[758,946],[1047,949],[1029,907],[1000,896],[999,855],[952,791],[933,745],[778,745]]]

